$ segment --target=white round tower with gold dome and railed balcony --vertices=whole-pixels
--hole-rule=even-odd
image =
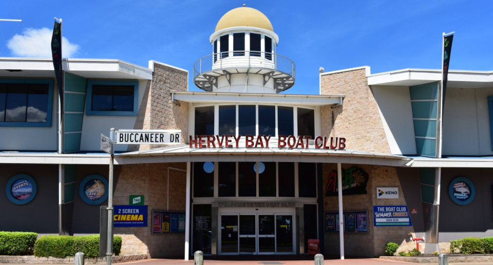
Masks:
[[[262,12],[239,7],[211,35],[213,53],[194,64],[194,83],[211,92],[279,93],[291,88],[295,64],[276,54],[279,37]]]

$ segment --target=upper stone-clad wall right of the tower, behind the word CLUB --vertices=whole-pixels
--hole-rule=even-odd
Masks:
[[[320,94],[342,94],[343,106],[323,106],[323,136],[345,137],[348,149],[390,154],[390,147],[365,69],[320,75]]]

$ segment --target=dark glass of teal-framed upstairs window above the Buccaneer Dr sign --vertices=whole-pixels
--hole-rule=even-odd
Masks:
[[[134,86],[92,86],[93,111],[134,111]]]

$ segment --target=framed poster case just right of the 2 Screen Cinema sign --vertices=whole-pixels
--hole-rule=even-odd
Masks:
[[[184,233],[185,213],[153,211],[153,234]]]

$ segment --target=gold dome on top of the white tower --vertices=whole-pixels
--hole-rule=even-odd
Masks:
[[[216,32],[231,27],[254,27],[274,31],[266,15],[257,9],[244,6],[225,13],[217,23]]]

